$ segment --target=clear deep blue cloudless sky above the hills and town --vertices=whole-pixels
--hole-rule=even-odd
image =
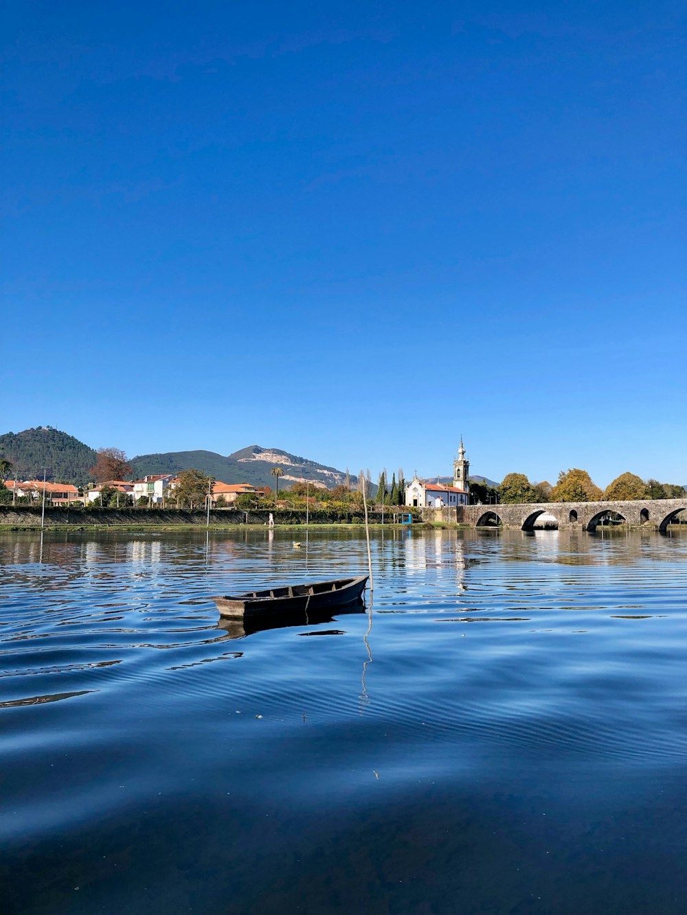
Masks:
[[[681,12],[5,5],[0,432],[687,483]]]

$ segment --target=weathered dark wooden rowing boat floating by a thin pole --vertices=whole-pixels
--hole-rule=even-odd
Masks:
[[[333,607],[343,607],[361,600],[368,576],[334,578],[306,585],[285,585],[213,597],[220,616],[249,619],[254,616],[308,614]]]

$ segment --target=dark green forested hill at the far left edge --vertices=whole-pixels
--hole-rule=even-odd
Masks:
[[[10,476],[16,471],[17,479],[43,479],[47,465],[46,479],[81,486],[91,479],[88,470],[95,463],[95,451],[51,425],[38,425],[0,436],[0,458],[12,461]]]

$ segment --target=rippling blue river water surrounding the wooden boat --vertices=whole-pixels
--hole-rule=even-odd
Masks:
[[[3,915],[687,911],[687,535],[292,536],[0,535]]]

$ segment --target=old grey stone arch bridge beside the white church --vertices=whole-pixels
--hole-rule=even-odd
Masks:
[[[471,527],[502,524],[505,528],[531,531],[544,512],[553,515],[559,529],[594,531],[610,512],[627,522],[665,531],[679,511],[687,511],[682,499],[638,499],[622,502],[537,502],[528,505],[459,505],[457,509],[424,509],[425,521],[455,521]]]

